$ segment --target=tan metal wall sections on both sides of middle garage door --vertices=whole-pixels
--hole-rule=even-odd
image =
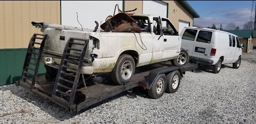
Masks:
[[[163,1],[168,3],[168,18],[172,21],[175,29],[179,29],[179,20],[189,22],[193,26],[193,16],[178,1]],[[137,8],[135,13],[142,14],[143,1],[125,1],[125,11]]]

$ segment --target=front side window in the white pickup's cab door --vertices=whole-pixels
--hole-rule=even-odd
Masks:
[[[162,30],[165,36],[178,35],[178,32],[174,28],[172,23],[169,20],[164,18],[162,18]]]

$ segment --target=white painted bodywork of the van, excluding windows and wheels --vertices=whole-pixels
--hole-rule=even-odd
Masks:
[[[197,31],[195,39],[188,38],[187,36],[186,40],[185,37],[183,37],[183,34],[185,33],[186,29]],[[209,42],[199,42],[197,41],[198,33],[199,31],[207,31],[212,32],[212,37]],[[230,64],[235,63],[239,56],[242,55],[242,48],[237,47],[237,36],[233,33],[220,31],[220,30],[214,30],[214,29],[208,29],[208,28],[197,28],[197,27],[185,27],[181,31],[181,48],[188,51],[188,54],[191,58],[196,58],[198,62],[204,61],[201,64],[204,65],[215,65],[217,64],[218,60],[222,58],[222,64]],[[231,36],[231,47],[229,46],[229,36]],[[235,38],[235,44],[233,42],[233,38]],[[238,41],[239,43],[239,41]],[[235,45],[233,47],[233,44]],[[197,49],[200,49],[197,51]],[[216,49],[215,56],[211,55],[211,50]]]

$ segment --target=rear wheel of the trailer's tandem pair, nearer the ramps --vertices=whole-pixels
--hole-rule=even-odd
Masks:
[[[154,99],[161,98],[166,90],[166,84],[166,76],[164,74],[158,75],[151,88],[147,90],[148,95]]]

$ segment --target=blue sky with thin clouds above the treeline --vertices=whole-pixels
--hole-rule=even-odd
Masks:
[[[212,26],[225,29],[228,23],[234,22],[239,29],[251,20],[252,1],[187,1],[199,14],[194,19],[196,26]]]

